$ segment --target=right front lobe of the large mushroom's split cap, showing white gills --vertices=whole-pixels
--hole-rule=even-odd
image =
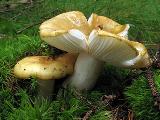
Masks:
[[[101,30],[93,31],[91,34],[92,56],[119,67],[143,68],[151,64],[143,44]],[[95,47],[101,52],[95,51]]]

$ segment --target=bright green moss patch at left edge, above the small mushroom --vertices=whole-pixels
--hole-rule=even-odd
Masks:
[[[7,77],[11,73],[13,65],[24,57],[26,53],[35,54],[40,49],[38,37],[20,35],[16,38],[9,38],[0,41],[0,75]]]

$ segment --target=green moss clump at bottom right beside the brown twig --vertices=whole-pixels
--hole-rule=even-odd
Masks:
[[[160,90],[160,71],[154,72],[156,87]],[[137,120],[160,120],[159,110],[154,106],[154,99],[144,76],[134,80],[125,91]]]

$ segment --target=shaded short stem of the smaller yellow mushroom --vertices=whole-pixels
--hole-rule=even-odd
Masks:
[[[52,98],[55,80],[38,80],[38,95],[44,98]]]

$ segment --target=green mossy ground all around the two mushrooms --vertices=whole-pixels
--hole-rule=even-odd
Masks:
[[[128,119],[128,115],[132,116],[130,109],[137,120],[160,119],[143,74],[145,70],[105,66],[95,88],[87,92],[64,89],[61,80],[56,83],[52,101],[36,96],[34,78],[22,81],[12,74],[16,62],[25,56],[63,52],[43,43],[38,27],[44,20],[71,10],[82,11],[87,17],[95,12],[121,24],[129,23],[129,38],[143,42],[153,57],[160,41],[159,0],[20,1],[0,0],[0,119]],[[153,71],[156,88],[160,91],[160,72]],[[108,98],[108,95],[111,96]]]

